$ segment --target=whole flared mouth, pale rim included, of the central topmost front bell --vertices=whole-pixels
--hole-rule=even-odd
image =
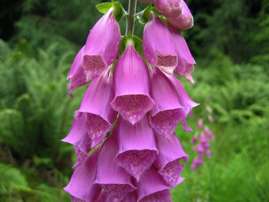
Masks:
[[[154,101],[148,95],[120,95],[111,102],[111,107],[131,124],[140,121],[153,106]]]

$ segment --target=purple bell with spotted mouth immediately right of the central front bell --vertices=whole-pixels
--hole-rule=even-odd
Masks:
[[[177,123],[186,115],[174,86],[158,68],[150,69],[150,95],[155,105],[149,111],[149,123],[161,136],[168,138],[174,133]]]

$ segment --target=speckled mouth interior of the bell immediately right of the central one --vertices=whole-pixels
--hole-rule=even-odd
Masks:
[[[174,133],[177,123],[180,121],[180,111],[165,110],[160,111],[155,116],[151,117],[153,129],[161,136],[168,138]]]

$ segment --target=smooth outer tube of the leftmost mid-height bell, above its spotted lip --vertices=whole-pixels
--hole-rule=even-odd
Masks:
[[[88,155],[89,151],[91,151],[91,139],[85,129],[87,116],[86,114],[80,115],[81,113],[79,111],[75,112],[75,119],[71,131],[62,141],[77,146],[80,151]]]

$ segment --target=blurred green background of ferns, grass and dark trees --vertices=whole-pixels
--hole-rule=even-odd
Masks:
[[[101,0],[0,1],[0,201],[70,201],[62,189],[76,160],[69,133],[86,87],[70,98],[66,80]],[[127,0],[119,1],[125,10]],[[186,0],[194,26],[182,31],[195,58],[195,85],[179,78],[193,109],[174,202],[269,201],[269,1]],[[137,2],[137,12],[148,4]],[[125,33],[126,19],[121,24]],[[143,25],[135,27],[142,39]],[[210,123],[206,108],[211,107]],[[203,119],[212,157],[193,171],[190,139]]]

